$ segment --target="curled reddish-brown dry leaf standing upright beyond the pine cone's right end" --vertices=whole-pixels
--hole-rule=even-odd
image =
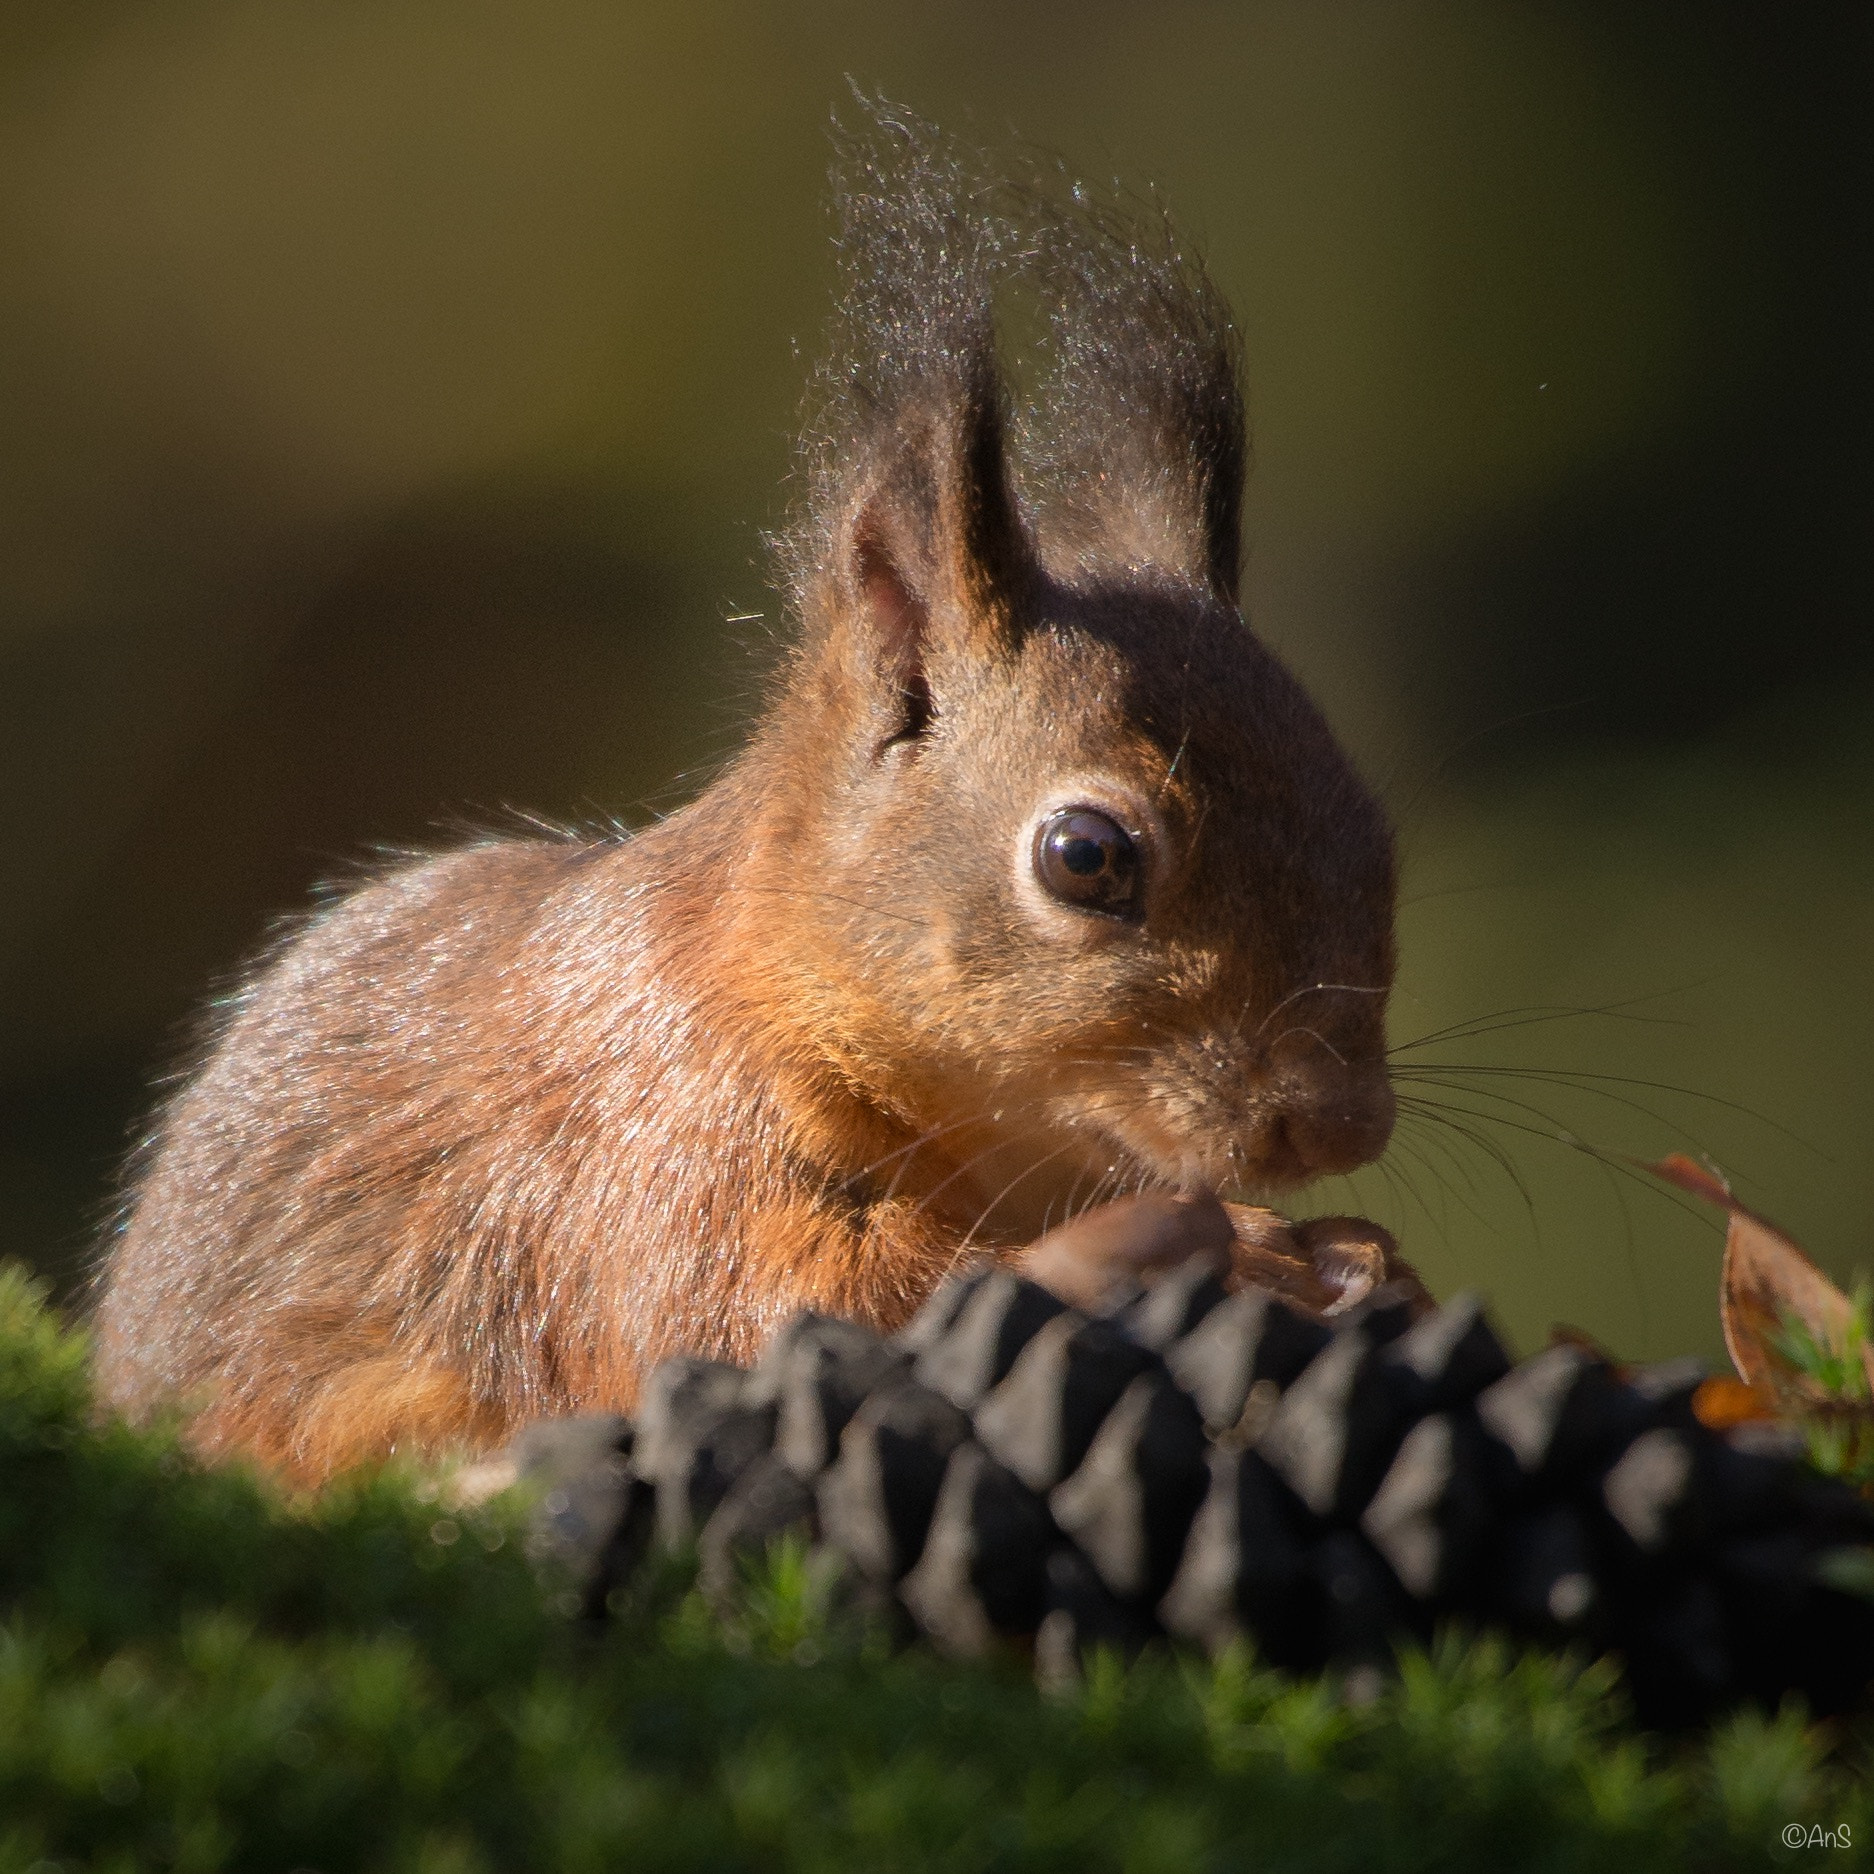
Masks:
[[[1747,1211],[1718,1173],[1683,1153],[1645,1169],[1730,1212],[1718,1316],[1732,1366],[1784,1409],[1825,1404],[1822,1389],[1790,1361],[1778,1340],[1786,1321],[1799,1321],[1820,1346],[1844,1347],[1853,1319],[1848,1297],[1775,1224]],[[1874,1385],[1874,1347],[1863,1346],[1861,1362]]]

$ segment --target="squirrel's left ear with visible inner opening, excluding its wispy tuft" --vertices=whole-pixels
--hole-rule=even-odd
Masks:
[[[993,384],[894,427],[834,530],[832,630],[898,701],[888,742],[933,712],[931,652],[1014,628],[1027,547],[1008,487]]]

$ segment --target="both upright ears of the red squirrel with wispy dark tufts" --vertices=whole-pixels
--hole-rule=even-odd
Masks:
[[[1151,202],[1033,169],[988,180],[933,126],[858,101],[860,131],[836,137],[840,292],[804,498],[778,542],[808,639],[856,630],[915,699],[937,639],[1010,630],[1042,572],[1233,609],[1239,343],[1201,259]],[[1046,335],[1010,420],[995,313],[1012,287]]]

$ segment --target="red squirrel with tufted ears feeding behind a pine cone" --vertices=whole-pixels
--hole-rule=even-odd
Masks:
[[[304,1480],[487,1449],[800,1308],[892,1329],[1102,1199],[1203,1237],[1383,1149],[1391,832],[1239,611],[1227,307],[1162,219],[890,111],[834,189],[744,751],[645,832],[377,877],[251,973],[129,1186],[112,1406]]]

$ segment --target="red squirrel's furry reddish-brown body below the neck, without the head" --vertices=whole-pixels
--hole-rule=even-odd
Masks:
[[[201,1441],[324,1471],[628,1404],[804,1306],[903,1319],[944,1211],[840,1188],[838,1147],[894,1128],[802,1102],[810,1063],[748,1019],[751,959],[684,881],[723,877],[708,832],[468,847],[262,973],[118,1252],[116,1400],[201,1400]]]

